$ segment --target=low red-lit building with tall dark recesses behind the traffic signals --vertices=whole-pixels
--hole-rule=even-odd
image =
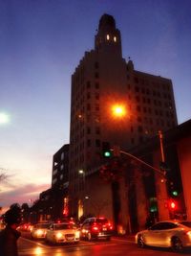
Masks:
[[[190,219],[191,120],[162,135],[86,175],[87,215],[104,215],[127,233],[148,219]]]

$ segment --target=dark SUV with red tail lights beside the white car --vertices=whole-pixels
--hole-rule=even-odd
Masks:
[[[93,239],[110,240],[113,234],[113,225],[106,218],[88,218],[80,228],[80,237],[91,241]]]

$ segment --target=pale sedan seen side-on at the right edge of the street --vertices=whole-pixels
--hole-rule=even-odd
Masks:
[[[171,247],[174,251],[181,251],[191,246],[191,221],[159,221],[147,230],[139,231],[136,243],[139,247]]]

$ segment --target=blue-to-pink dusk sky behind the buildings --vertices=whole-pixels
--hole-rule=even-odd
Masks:
[[[53,154],[69,143],[71,76],[114,16],[122,55],[173,81],[179,124],[191,116],[190,0],[0,0],[0,206],[51,187]]]

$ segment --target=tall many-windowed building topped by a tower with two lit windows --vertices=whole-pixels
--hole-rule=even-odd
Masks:
[[[115,105],[123,107],[123,115],[115,115]],[[72,76],[71,214],[84,214],[84,187],[97,188],[90,175],[103,162],[102,142],[127,151],[176,125],[172,81],[137,71],[131,59],[122,58],[116,21],[103,14],[95,49],[85,52]]]

